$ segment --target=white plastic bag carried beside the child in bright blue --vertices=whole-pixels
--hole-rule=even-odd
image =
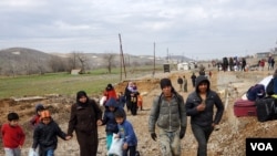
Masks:
[[[107,152],[107,155],[116,155],[122,156],[123,155],[123,138],[114,138],[116,134],[113,134],[113,141],[112,145]]]

